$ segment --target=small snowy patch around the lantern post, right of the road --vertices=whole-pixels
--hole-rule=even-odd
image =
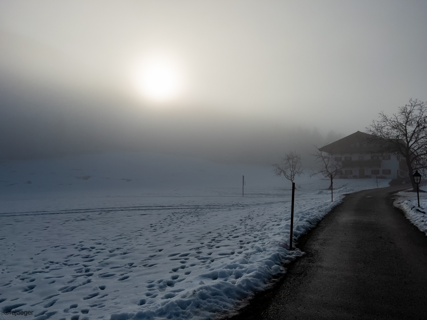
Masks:
[[[421,186],[421,190],[427,191],[427,186]],[[411,221],[419,230],[424,232],[427,236],[427,193],[421,192],[420,194],[420,208],[418,208],[418,199],[416,192],[401,191],[397,193],[397,198],[394,201],[395,207],[398,207],[405,212],[406,217]]]

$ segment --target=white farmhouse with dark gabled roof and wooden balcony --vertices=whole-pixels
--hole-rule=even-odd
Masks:
[[[368,143],[370,134],[357,131],[340,140],[319,148],[330,154],[335,163],[341,165],[340,178],[383,178],[398,179],[408,176],[405,159],[396,154],[380,154]]]

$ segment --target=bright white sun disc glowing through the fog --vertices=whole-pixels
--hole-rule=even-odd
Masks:
[[[147,58],[135,68],[135,86],[146,99],[170,101],[181,93],[183,76],[178,65],[165,57]]]

